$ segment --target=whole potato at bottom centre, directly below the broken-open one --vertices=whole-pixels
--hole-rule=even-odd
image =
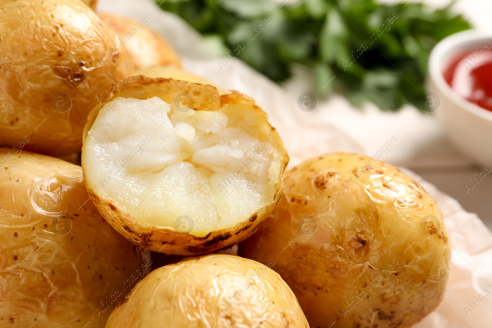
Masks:
[[[152,271],[106,328],[307,328],[289,286],[264,265],[211,254]]]

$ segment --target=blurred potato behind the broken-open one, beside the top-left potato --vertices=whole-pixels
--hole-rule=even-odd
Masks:
[[[106,13],[99,13],[99,17],[120,37],[136,69],[159,65],[181,67],[178,53],[169,42],[145,25],[152,14],[145,14],[140,21]]]

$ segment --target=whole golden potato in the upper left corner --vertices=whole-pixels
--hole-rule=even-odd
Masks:
[[[0,146],[80,151],[87,114],[132,75],[122,43],[79,0],[0,0],[0,21]]]

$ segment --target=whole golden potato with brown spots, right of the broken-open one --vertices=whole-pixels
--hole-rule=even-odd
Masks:
[[[239,254],[275,262],[311,327],[412,326],[441,302],[447,234],[436,202],[417,182],[347,153],[307,160],[284,181],[281,201]],[[441,223],[432,236],[421,229],[427,215]]]

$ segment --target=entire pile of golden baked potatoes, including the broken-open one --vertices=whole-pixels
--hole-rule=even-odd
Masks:
[[[253,99],[84,2],[0,0],[0,327],[390,328],[438,306],[450,250],[417,182],[347,153],[284,173]]]

